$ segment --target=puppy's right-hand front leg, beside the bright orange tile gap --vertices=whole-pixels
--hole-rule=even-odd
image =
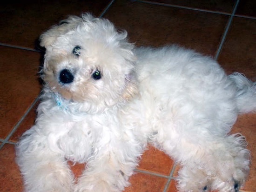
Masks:
[[[75,186],[75,192],[121,192],[129,185],[128,179],[137,166],[139,151],[125,151],[133,147],[116,146],[104,149],[92,157]]]

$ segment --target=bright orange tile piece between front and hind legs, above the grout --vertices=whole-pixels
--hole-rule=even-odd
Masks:
[[[174,161],[168,155],[149,146],[142,155],[138,169],[169,175],[173,165]]]

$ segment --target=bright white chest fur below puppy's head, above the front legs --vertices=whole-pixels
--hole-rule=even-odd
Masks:
[[[44,102],[40,105],[44,105]],[[75,116],[61,108],[51,110],[49,118],[58,121],[45,122],[48,129],[39,131],[44,131],[51,150],[61,152],[74,162],[87,162],[98,152],[109,150],[111,146],[121,146],[134,137],[133,127],[120,120],[120,110]]]

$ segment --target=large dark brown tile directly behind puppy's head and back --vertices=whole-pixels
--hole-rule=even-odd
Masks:
[[[117,0],[104,17],[128,31],[137,46],[179,44],[215,55],[226,15]]]

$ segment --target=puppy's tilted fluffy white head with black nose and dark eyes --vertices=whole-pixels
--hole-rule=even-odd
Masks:
[[[40,36],[47,88],[97,113],[137,93],[133,45],[125,31],[90,14],[70,16]]]

